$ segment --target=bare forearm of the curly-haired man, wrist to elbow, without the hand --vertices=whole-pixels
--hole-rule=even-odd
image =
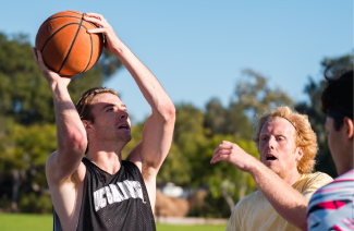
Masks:
[[[306,208],[308,202],[300,192],[261,162],[258,162],[249,173],[280,216],[297,228],[307,230]]]

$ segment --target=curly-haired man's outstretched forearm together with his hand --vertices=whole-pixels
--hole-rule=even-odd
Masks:
[[[280,216],[297,228],[307,230],[308,202],[301,193],[236,144],[224,141],[215,149],[210,162],[216,163],[222,160],[248,172]]]

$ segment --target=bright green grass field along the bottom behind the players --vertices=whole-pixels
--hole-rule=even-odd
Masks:
[[[53,221],[50,215],[0,214],[0,231],[48,231],[52,230]],[[227,226],[171,226],[157,224],[158,231],[219,231]]]

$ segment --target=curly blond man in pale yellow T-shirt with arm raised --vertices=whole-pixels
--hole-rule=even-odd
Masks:
[[[306,230],[310,196],[332,181],[326,173],[312,173],[318,147],[307,115],[289,107],[272,108],[258,118],[255,127],[260,161],[227,141],[211,159],[211,163],[225,160],[248,172],[258,187],[237,203],[227,231]]]

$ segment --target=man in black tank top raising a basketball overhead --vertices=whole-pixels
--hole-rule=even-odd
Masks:
[[[121,150],[131,139],[131,123],[118,94],[93,88],[75,108],[68,93],[71,78],[50,71],[34,48],[56,108],[58,149],[46,165],[54,230],[156,230],[156,175],[171,146],[174,106],[154,74],[101,15],[87,13],[84,20],[100,26],[88,33],[106,35],[107,50],[132,74],[152,114],[144,125],[142,142],[122,160]]]

